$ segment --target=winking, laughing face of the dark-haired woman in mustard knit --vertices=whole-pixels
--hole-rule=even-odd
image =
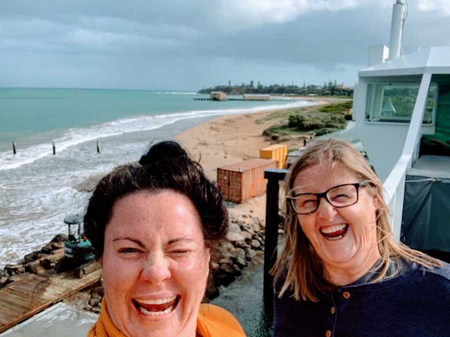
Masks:
[[[195,336],[209,250],[192,202],[163,190],[119,199],[100,260],[107,310],[126,336]]]

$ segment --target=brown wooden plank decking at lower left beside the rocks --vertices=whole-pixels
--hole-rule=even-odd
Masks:
[[[99,267],[78,279],[72,272],[29,274],[0,290],[0,333],[100,280]]]

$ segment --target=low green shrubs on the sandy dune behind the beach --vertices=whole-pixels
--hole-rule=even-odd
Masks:
[[[321,136],[343,129],[346,121],[351,119],[350,109],[351,101],[300,107],[272,112],[256,123],[276,120],[276,124],[262,133],[272,139],[295,134]]]

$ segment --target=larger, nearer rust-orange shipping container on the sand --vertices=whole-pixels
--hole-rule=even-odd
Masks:
[[[241,203],[265,193],[264,170],[276,167],[276,161],[269,159],[250,159],[220,167],[217,184],[225,200]]]

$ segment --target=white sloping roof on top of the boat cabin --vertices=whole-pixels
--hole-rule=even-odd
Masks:
[[[359,77],[450,74],[450,47],[430,47],[359,71]]]

